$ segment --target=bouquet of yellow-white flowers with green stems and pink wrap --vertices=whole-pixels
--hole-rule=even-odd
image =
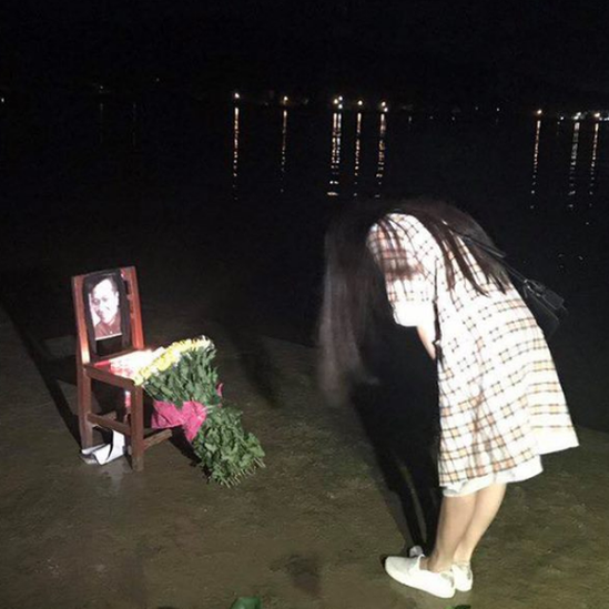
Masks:
[[[205,336],[180,341],[158,349],[133,380],[154,400],[152,426],[182,425],[210,479],[233,486],[264,467],[264,450],[243,429],[240,410],[222,403],[214,357],[215,346]]]

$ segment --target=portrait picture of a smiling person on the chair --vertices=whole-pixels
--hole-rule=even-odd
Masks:
[[[88,275],[83,283],[89,346],[95,354],[122,351],[131,344],[129,300],[119,268]]]

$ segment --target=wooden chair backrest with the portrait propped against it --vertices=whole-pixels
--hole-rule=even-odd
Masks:
[[[79,364],[144,348],[138,275],[133,266],[72,277]]]

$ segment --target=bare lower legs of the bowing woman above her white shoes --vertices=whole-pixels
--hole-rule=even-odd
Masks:
[[[497,516],[506,485],[491,485],[471,495],[444,497],[436,546],[422,567],[447,571],[454,562],[469,562],[476,546]]]

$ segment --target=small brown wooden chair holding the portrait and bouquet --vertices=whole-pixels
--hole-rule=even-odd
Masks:
[[[100,287],[102,282],[104,285]],[[116,288],[120,334],[114,336],[108,332],[110,326],[99,325],[103,319],[95,315],[93,303],[99,303],[100,298],[95,300],[93,296],[100,292],[94,291],[102,288],[105,292],[109,292],[108,288]],[[119,362],[136,359],[139,353],[146,351],[135,268],[129,266],[72,277],[72,295],[78,331],[78,412],[82,448],[93,445],[93,427],[114,429],[128,437],[131,466],[134,470],[141,471],[144,468],[144,450],[171,437],[171,429],[144,436],[143,389],[135,386],[129,369],[116,371]],[[102,315],[100,308],[97,311]],[[116,410],[109,414],[92,412],[93,380],[124,390],[124,417],[119,416],[120,413]]]

